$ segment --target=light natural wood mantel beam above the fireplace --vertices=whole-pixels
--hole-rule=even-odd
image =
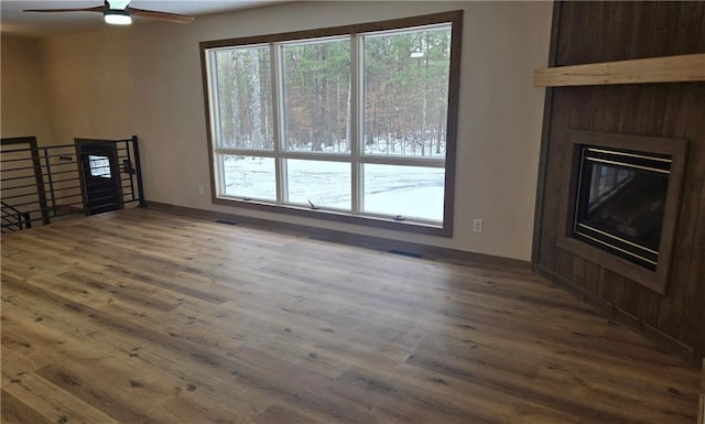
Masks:
[[[534,87],[705,81],[705,53],[538,69]]]

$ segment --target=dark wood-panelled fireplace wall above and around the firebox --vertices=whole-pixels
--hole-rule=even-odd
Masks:
[[[702,73],[703,56],[695,56],[702,53],[705,2],[554,6],[551,68],[648,59],[665,63],[668,70],[670,64],[685,64],[672,56],[690,55],[690,69]],[[532,263],[539,273],[699,366],[705,355],[705,81],[692,74],[648,84],[629,75],[617,84],[600,84],[598,76],[597,85],[595,78],[585,85],[557,78],[546,89]],[[630,78],[640,84],[627,84]],[[636,150],[681,155],[679,181],[669,186],[666,251],[660,252],[655,272],[586,248],[566,233],[576,131],[623,134],[636,140]]]

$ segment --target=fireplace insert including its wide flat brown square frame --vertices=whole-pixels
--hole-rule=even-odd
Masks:
[[[663,293],[685,142],[571,131],[557,243]]]

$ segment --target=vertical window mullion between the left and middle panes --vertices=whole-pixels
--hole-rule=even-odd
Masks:
[[[284,151],[284,76],[282,68],[282,50],[279,43],[270,44],[270,55],[272,57],[272,105],[274,115],[274,174],[276,175],[276,202],[285,204],[289,202],[289,189],[286,188],[288,173],[286,162],[282,157]]]

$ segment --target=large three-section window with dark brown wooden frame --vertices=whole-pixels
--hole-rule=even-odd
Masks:
[[[451,236],[460,20],[200,43],[214,202]]]

